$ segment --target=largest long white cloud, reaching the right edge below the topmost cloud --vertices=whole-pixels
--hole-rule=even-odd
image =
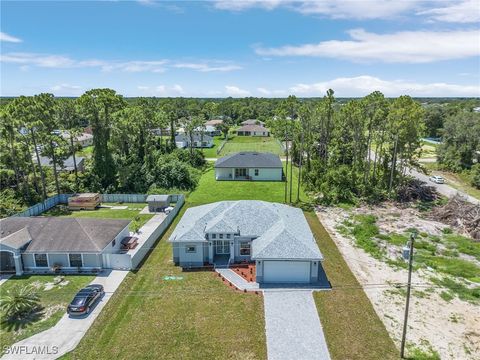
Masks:
[[[356,62],[427,63],[480,55],[480,33],[467,31],[401,31],[375,34],[363,29],[348,31],[351,40],[318,44],[257,48],[259,55],[315,56]]]

